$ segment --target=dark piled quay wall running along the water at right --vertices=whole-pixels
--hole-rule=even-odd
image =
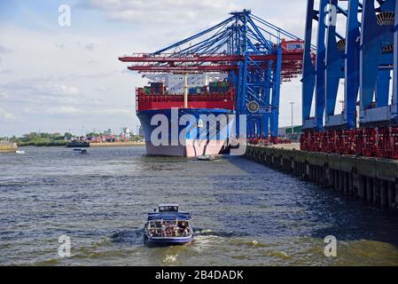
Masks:
[[[398,161],[247,146],[246,157],[374,207],[398,211]]]

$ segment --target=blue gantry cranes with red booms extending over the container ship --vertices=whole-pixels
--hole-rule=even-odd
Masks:
[[[247,115],[246,137],[276,140],[280,87],[301,74],[303,46],[298,36],[244,10],[159,51],[119,59],[144,74],[226,74],[236,114]]]

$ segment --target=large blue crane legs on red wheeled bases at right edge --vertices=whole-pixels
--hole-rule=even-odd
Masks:
[[[307,4],[301,149],[398,158],[398,1],[318,2]]]

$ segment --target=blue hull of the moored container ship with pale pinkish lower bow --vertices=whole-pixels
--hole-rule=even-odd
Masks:
[[[155,117],[155,122],[151,123],[157,114],[165,118],[162,123],[166,125],[162,125],[163,132],[161,133],[160,122],[158,121],[160,116]],[[191,125],[195,125],[194,128],[196,130],[192,131],[193,128],[190,127],[190,123],[178,123],[184,114],[189,114],[191,121],[194,120],[195,123]],[[200,155],[220,154],[229,144],[229,130],[235,117],[230,114],[235,114],[235,112],[229,109],[213,108],[176,108],[137,111],[137,116],[144,130],[147,154],[177,157],[198,157]],[[222,123],[222,125],[218,123],[215,125],[214,120],[203,119],[203,117],[208,117],[208,115],[216,118],[220,118],[220,115],[224,116],[227,123]]]

